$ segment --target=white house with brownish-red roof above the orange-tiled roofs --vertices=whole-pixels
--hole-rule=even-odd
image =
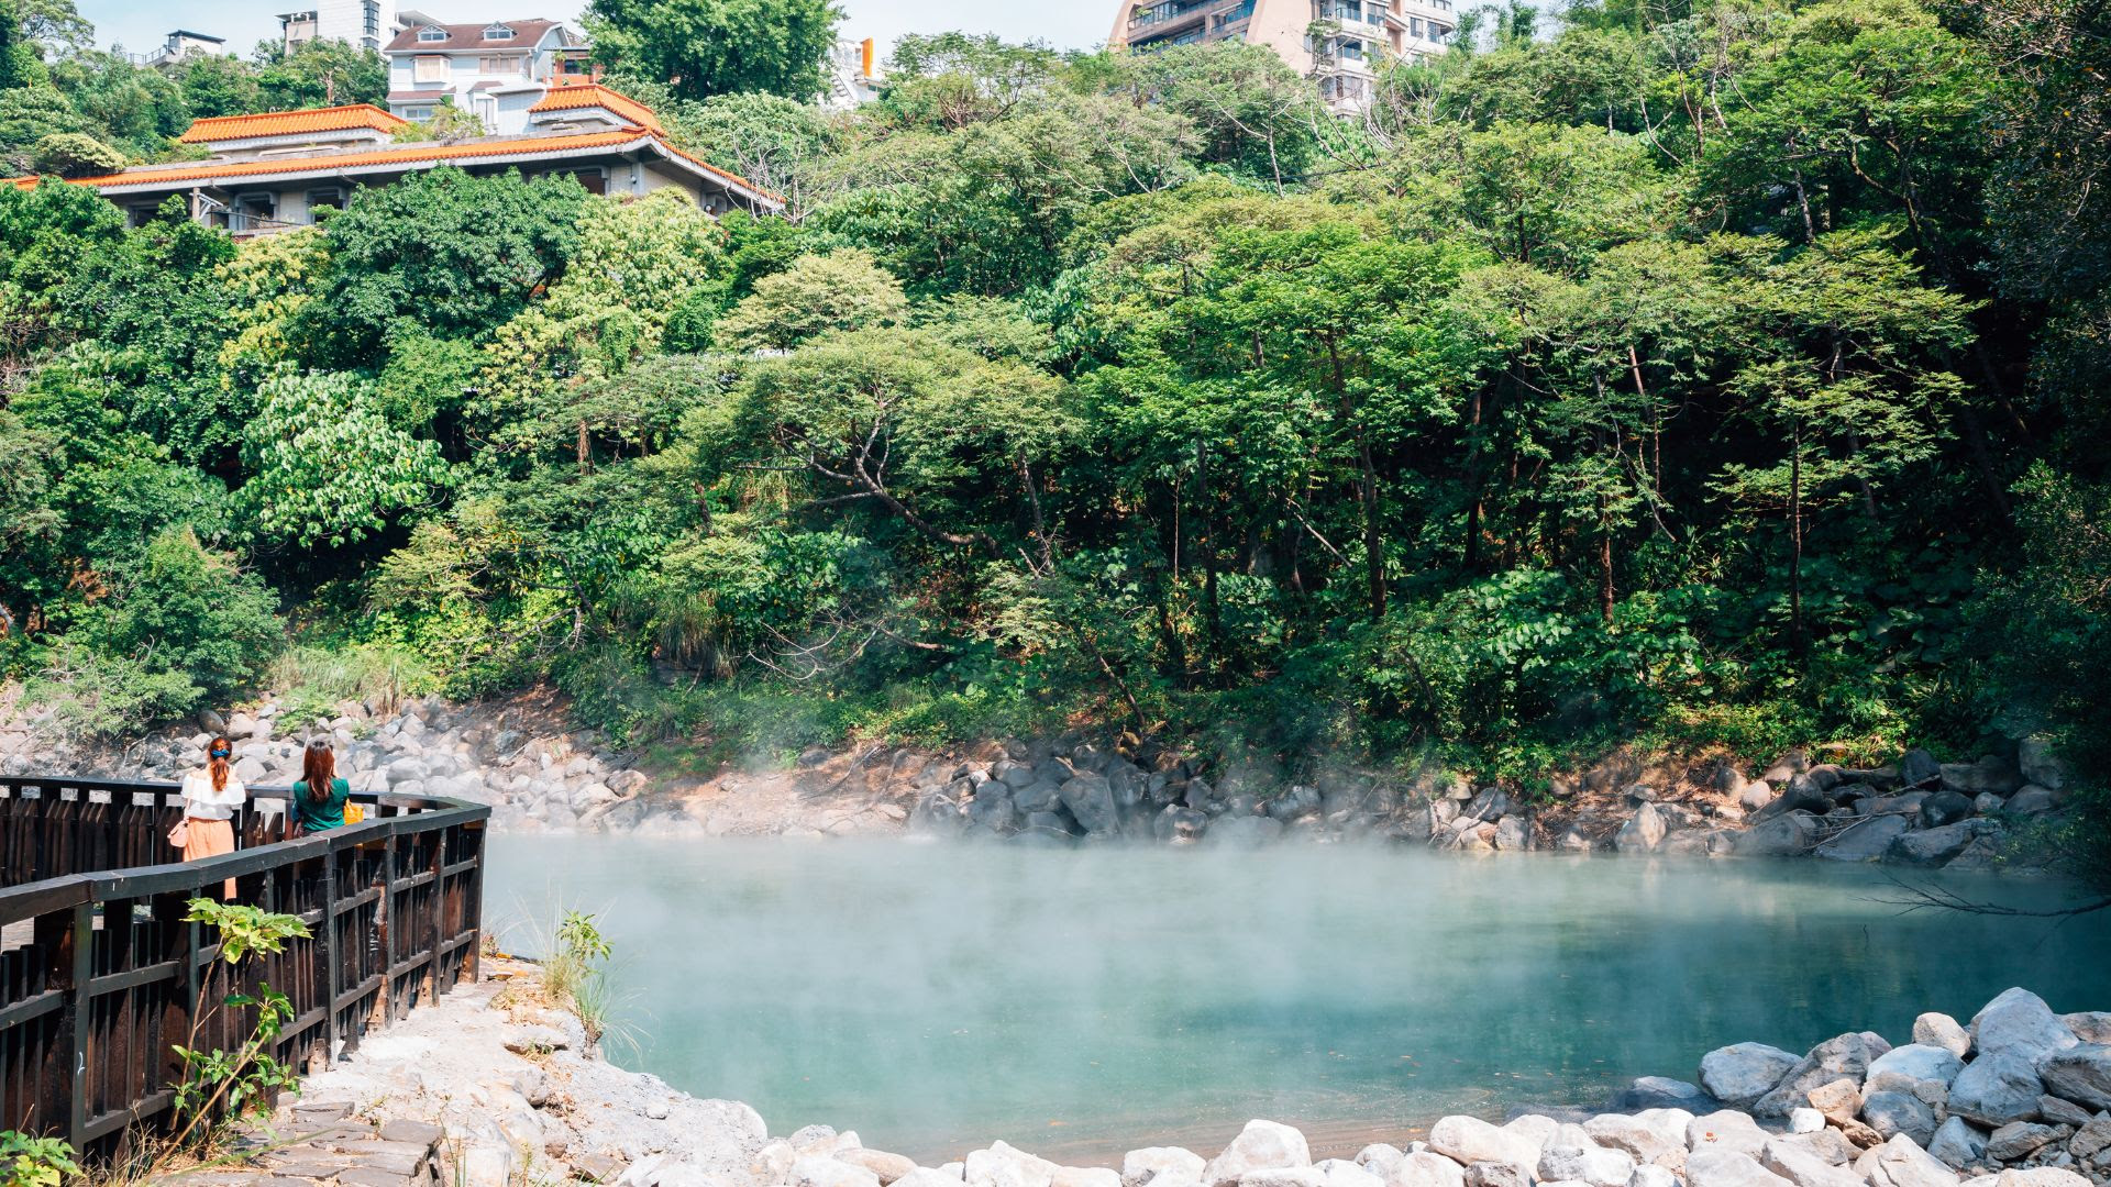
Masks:
[[[422,17],[422,13],[412,13]],[[494,135],[519,135],[553,84],[591,76],[587,42],[557,21],[405,23],[388,46],[388,112],[412,123],[452,103]]]

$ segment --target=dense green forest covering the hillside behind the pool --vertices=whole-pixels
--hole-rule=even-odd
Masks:
[[[855,116],[616,76],[785,220],[441,169],[236,247],[0,190],[4,661],[106,733],[279,663],[720,756],[2100,777],[2092,13],[1490,11],[1359,123],[1248,46],[910,38]]]

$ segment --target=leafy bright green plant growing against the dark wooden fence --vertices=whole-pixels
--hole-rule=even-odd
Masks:
[[[243,961],[285,950],[287,940],[306,938],[308,925],[293,915],[274,915],[255,906],[224,904],[211,898],[190,900],[190,923],[207,923],[220,934],[220,959],[213,961],[201,1001],[209,1001],[222,978],[232,980]],[[171,1050],[184,1060],[184,1081],[175,1090],[175,1115],[184,1122],[171,1138],[165,1157],[175,1151],[211,1151],[228,1122],[270,1113],[272,1098],[298,1090],[300,1077],[279,1062],[272,1043],[293,1020],[293,1003],[266,982],[258,993],[230,991],[220,1007],[255,1010],[249,1037],[234,1050],[198,1050],[198,1031],[217,1012],[198,1010],[186,1043]],[[158,1160],[156,1160],[158,1162]]]

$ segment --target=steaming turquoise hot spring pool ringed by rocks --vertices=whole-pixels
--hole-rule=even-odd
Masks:
[[[1902,912],[1828,862],[1431,858],[1383,847],[1041,851],[498,836],[486,910],[532,953],[557,904],[616,946],[616,1062],[935,1164],[994,1138],[1072,1162],[1216,1149],[1248,1117],[1315,1155],[1444,1113],[1693,1079],[1731,1041],[1906,1041],[2024,984],[2111,1007],[2111,919]],[[2054,904],[2060,885],[1944,879]]]

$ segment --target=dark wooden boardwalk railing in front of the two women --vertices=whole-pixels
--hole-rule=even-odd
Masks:
[[[251,794],[241,849],[182,864],[173,784],[0,775],[0,1130],[89,1151],[167,1124],[171,1043],[234,1050],[253,1029],[230,993],[285,993],[274,1054],[312,1071],[475,980],[488,807],[355,794],[365,822],[287,841],[285,788]],[[230,969],[184,921],[230,879],[310,938]]]

